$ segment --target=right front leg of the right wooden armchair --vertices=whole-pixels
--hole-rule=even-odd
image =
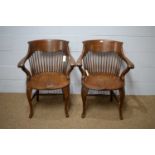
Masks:
[[[119,94],[120,94],[119,117],[120,117],[120,120],[123,120],[122,108],[123,108],[124,98],[125,98],[125,90],[124,90],[124,88],[119,89]]]

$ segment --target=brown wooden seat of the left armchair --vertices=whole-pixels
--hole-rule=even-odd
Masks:
[[[63,73],[47,72],[32,76],[27,85],[33,89],[61,89],[69,85],[69,80]]]

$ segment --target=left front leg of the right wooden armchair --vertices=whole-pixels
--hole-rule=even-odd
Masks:
[[[83,102],[83,112],[81,114],[82,118],[85,118],[86,116],[86,99],[87,99],[88,89],[84,86],[81,88],[81,97]]]

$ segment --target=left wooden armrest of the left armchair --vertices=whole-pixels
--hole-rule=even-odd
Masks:
[[[21,59],[18,63],[18,67],[21,68],[25,74],[27,75],[27,79],[30,79],[31,77],[31,73],[29,72],[29,70],[25,67],[25,62],[27,60],[27,56],[25,56],[23,59]]]

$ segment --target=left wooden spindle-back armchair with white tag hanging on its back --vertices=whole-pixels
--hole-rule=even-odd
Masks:
[[[26,94],[30,107],[29,118],[33,116],[32,90],[36,90],[39,101],[39,90],[62,89],[65,104],[65,115],[69,117],[70,106],[70,72],[76,65],[70,54],[68,41],[34,40],[28,42],[27,55],[18,63],[27,75]],[[25,67],[29,61],[30,71]]]

